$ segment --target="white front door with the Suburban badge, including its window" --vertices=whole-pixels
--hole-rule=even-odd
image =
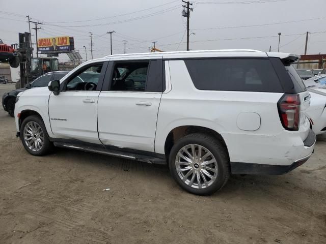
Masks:
[[[96,105],[106,65],[99,62],[80,67],[62,81],[58,96],[50,95],[48,111],[56,138],[100,144]]]

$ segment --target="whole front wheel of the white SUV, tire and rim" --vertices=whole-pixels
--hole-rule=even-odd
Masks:
[[[36,115],[28,116],[22,121],[20,138],[26,151],[34,156],[46,155],[53,148],[43,120]]]

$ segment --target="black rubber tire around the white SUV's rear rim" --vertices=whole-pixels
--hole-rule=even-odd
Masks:
[[[216,165],[217,165],[217,169],[218,169],[216,172],[216,174],[217,174],[216,178],[211,182],[211,185],[207,184],[207,186],[205,185],[205,188],[202,188],[202,189],[194,188],[194,187],[196,187],[194,185],[193,185],[193,187],[187,185],[185,182],[182,181],[181,176],[179,176],[179,174],[177,172],[177,164],[176,164],[177,154],[178,154],[179,150],[181,150],[181,148],[185,148],[186,146],[191,145],[191,144],[196,144],[196,145],[204,147],[204,149],[207,149],[213,155],[213,157],[215,159],[214,162],[216,162],[215,166],[212,166],[212,167],[215,169]],[[204,150],[204,149],[202,149],[202,150]],[[198,156],[198,154],[199,154],[198,151],[196,154]],[[200,157],[200,158],[202,158],[202,157]],[[185,163],[186,163],[186,161],[185,161]],[[204,163],[202,163],[202,164],[204,164]],[[203,167],[202,164],[199,167]],[[194,166],[197,166],[197,165],[194,165]],[[185,167],[188,167],[188,166],[185,166]],[[210,195],[216,191],[221,190],[230,177],[230,162],[229,162],[229,157],[228,157],[226,147],[218,139],[216,139],[208,134],[204,134],[204,133],[189,134],[189,135],[186,135],[183,138],[179,139],[173,145],[173,147],[171,149],[170,156],[169,156],[169,168],[170,168],[170,172],[171,172],[173,178],[177,181],[179,186],[181,188],[183,188],[184,190],[186,190],[187,192],[196,194],[196,195]],[[202,170],[201,168],[196,168],[196,169],[195,168],[193,167],[194,170]],[[185,172],[187,172],[187,171],[185,171]],[[207,172],[207,170],[206,170],[206,172]],[[212,172],[210,172],[210,173],[212,173]],[[201,177],[205,177],[206,180],[211,179],[211,178],[208,178],[204,174],[202,174],[202,175],[203,176],[201,176]],[[188,179],[191,178],[191,176],[192,176],[192,174],[190,174],[188,176]],[[204,182],[203,178],[200,178],[199,181],[201,181],[201,179]],[[189,180],[189,181],[191,182],[191,180]],[[194,184],[195,184],[195,181],[198,181],[197,177],[193,181]],[[188,184],[190,184],[190,183],[188,182]],[[199,187],[199,184],[198,184],[198,187]]]

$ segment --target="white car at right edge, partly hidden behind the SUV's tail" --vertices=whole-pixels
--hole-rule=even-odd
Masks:
[[[326,75],[316,75],[304,81],[310,95],[307,117],[316,135],[326,132]]]

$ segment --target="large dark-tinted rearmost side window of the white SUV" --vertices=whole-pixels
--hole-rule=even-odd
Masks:
[[[283,93],[269,59],[208,58],[184,62],[195,87],[200,90]]]

